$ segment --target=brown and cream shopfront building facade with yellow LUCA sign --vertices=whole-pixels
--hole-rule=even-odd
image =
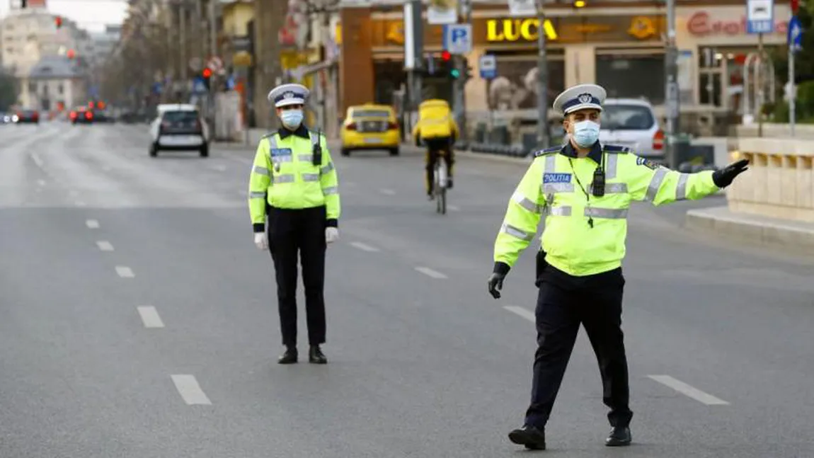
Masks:
[[[647,98],[657,111],[664,103],[666,11],[659,2],[602,2],[575,9],[546,7],[549,101],[562,89],[597,83],[610,97]],[[678,1],[676,45],[683,111],[740,109],[743,63],[758,38],[746,33],[743,2]],[[426,17],[426,15],[425,15]],[[769,49],[786,44],[790,6],[775,2],[775,33],[764,36]],[[404,21],[400,7],[345,7],[340,62],[343,109],[359,103],[393,103],[403,87]],[[476,5],[472,13],[473,50],[466,56],[472,77],[466,82],[467,112],[536,108],[536,17],[511,17],[504,5]],[[442,26],[424,24],[424,50],[434,59],[442,50]],[[479,76],[479,58],[494,55],[497,78]],[[445,75],[425,74],[422,98],[449,101]]]

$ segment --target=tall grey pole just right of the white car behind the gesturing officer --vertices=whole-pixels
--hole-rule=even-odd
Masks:
[[[676,0],[667,0],[667,49],[664,54],[664,95],[667,104],[667,163],[677,168],[676,134],[679,131],[678,49],[676,48]]]

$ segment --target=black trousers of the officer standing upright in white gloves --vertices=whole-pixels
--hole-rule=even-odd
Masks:
[[[286,210],[269,207],[269,251],[277,277],[283,345],[297,343],[297,255],[303,269],[309,344],[325,343],[325,207]]]

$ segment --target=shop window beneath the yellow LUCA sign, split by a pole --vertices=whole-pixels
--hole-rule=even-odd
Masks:
[[[488,81],[487,96],[490,110],[528,110],[537,107],[537,58],[531,52],[494,52],[497,78]],[[554,102],[565,90],[565,61],[562,52],[549,51],[548,98]]]

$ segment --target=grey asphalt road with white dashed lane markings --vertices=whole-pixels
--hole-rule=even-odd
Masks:
[[[147,155],[145,126],[0,126],[0,456],[516,456],[533,246],[496,301],[492,243],[522,164],[459,159],[450,212],[422,159],[335,155],[326,366],[276,364],[273,269],[245,202],[253,148]],[[814,265],[632,209],[624,329],[635,444],[587,339],[550,456],[814,456]],[[300,315],[302,316],[302,315]],[[304,319],[300,319],[304,350]]]

